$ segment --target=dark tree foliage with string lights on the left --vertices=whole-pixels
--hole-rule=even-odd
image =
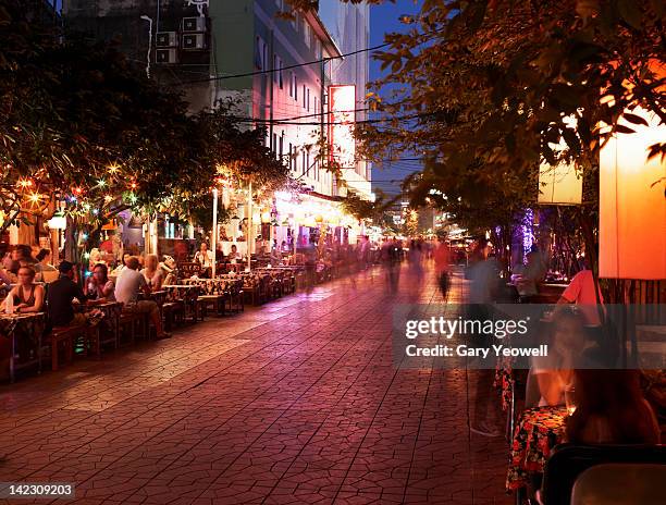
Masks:
[[[37,194],[39,204],[67,201],[67,212],[90,225],[127,207],[188,217],[220,168],[232,182],[287,181],[264,132],[243,128],[226,104],[190,114],[180,94],[113,45],[36,23],[17,0],[0,3],[0,71],[5,214],[44,210],[25,205]]]

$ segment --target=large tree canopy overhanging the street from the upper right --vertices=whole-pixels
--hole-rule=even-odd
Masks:
[[[640,107],[666,120],[665,11],[658,0],[424,0],[405,20],[408,33],[388,34],[378,56],[390,73],[371,106],[393,120],[360,130],[365,152],[427,153],[423,176],[409,184],[412,205],[435,192],[460,220],[497,206],[511,215],[535,201],[540,161],[595,173],[600,147],[631,132],[620,118],[643,123],[632,113]],[[387,84],[402,91],[382,96]],[[666,144],[650,155],[666,155]]]

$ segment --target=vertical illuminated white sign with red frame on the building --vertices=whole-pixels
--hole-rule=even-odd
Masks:
[[[356,167],[356,86],[329,86],[329,147],[331,161],[341,169]]]

